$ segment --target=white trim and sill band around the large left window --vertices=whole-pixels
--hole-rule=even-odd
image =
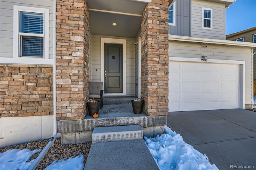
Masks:
[[[19,15],[20,11],[36,12],[44,14],[44,55],[39,57],[18,57],[19,56]],[[2,57],[1,63],[10,64],[38,64],[38,65],[52,65],[53,59],[49,59],[49,9],[34,8],[28,6],[14,5],[13,10],[13,58]]]

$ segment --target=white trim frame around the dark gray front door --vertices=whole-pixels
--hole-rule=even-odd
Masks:
[[[105,43],[116,43],[123,45],[123,93],[105,93],[103,91],[104,96],[125,96],[126,95],[126,40],[125,39],[115,39],[115,38],[100,38],[100,81],[103,82],[103,89],[104,86],[104,70],[105,70]]]

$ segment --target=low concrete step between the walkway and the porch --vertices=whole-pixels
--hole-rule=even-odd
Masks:
[[[111,142],[134,139],[143,139],[143,131],[140,125],[95,127],[92,132],[92,142]]]

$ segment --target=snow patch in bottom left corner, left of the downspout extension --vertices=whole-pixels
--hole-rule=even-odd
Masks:
[[[0,153],[0,170],[26,170],[34,162],[34,160],[27,162],[29,158],[39,151],[39,149],[33,151],[29,149],[9,149]]]

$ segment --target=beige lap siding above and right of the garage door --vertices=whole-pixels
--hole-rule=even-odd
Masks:
[[[252,104],[252,47],[201,43],[169,42],[169,57],[198,58],[208,55],[208,59],[245,61],[245,105]]]

